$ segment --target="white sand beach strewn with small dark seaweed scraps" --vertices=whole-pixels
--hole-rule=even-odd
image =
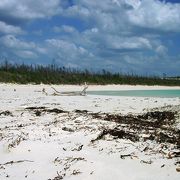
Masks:
[[[83,85],[0,84],[0,179],[179,179],[177,144],[170,140],[149,140],[149,134],[158,134],[162,127],[152,132],[148,129],[148,133],[143,129],[139,132],[140,138],[133,141],[132,136],[126,136],[126,132],[134,133],[132,124],[126,126],[105,117],[117,114],[130,118],[130,115],[142,115],[152,109],[177,111],[175,122],[168,128],[163,124],[163,132],[170,132],[170,128],[178,131],[180,98],[53,96],[51,87],[60,92],[83,89]],[[43,93],[43,88],[47,94]],[[88,90],[144,89],[180,87],[88,87]],[[116,137],[110,131],[115,128],[125,132],[125,136]],[[100,137],[102,132],[106,134]]]

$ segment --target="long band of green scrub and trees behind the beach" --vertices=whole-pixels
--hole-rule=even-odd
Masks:
[[[131,85],[167,85],[180,86],[178,79],[162,79],[160,77],[144,77],[110,73],[102,70],[93,73],[55,65],[14,65],[7,61],[0,65],[0,82],[4,83],[35,83],[35,84],[131,84]]]

